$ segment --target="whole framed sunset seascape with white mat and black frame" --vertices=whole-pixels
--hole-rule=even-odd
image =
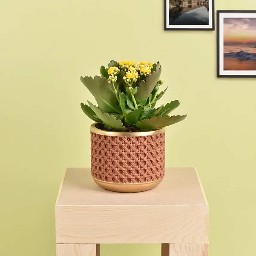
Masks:
[[[256,77],[256,11],[217,11],[217,77]]]

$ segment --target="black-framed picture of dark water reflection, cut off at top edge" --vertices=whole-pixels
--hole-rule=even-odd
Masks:
[[[214,30],[214,0],[164,0],[164,30]]]

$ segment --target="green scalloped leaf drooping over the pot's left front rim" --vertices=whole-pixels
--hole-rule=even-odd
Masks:
[[[122,124],[122,121],[116,119],[113,115],[109,115],[108,113],[102,113],[102,111],[93,105],[91,102],[88,101],[89,106],[95,112],[95,114],[102,120],[103,124],[107,127],[111,127],[112,129],[123,131],[125,127]]]

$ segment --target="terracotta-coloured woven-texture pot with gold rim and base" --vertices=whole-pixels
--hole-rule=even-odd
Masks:
[[[116,192],[141,192],[159,185],[164,178],[165,128],[110,132],[95,124],[91,125],[91,170],[97,185]]]

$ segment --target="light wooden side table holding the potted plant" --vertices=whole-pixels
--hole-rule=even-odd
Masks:
[[[56,202],[57,256],[99,256],[101,243],[161,243],[162,256],[208,256],[208,203],[193,167],[166,168],[141,193],[98,187],[69,168]]]

